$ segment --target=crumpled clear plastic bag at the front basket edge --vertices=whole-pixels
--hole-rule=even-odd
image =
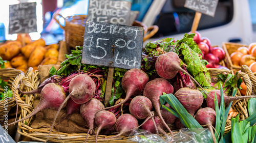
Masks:
[[[174,130],[173,143],[198,143],[198,142],[212,142],[212,136],[207,128],[183,128],[180,130]],[[157,134],[152,134],[150,131],[138,129],[129,136],[129,141],[145,142],[145,143],[166,143],[172,140],[172,136],[168,134],[168,138],[163,138]]]

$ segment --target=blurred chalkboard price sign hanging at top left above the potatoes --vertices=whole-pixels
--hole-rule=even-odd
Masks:
[[[9,5],[9,34],[37,32],[36,2]]]

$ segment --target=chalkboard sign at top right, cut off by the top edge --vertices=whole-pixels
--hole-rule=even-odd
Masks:
[[[186,0],[184,7],[214,17],[217,5],[218,0]]]

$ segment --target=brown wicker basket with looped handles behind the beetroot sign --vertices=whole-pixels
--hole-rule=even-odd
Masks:
[[[83,36],[84,36],[84,27],[86,23],[87,15],[75,15],[75,16],[68,16],[64,18],[60,14],[54,15],[54,19],[59,24],[60,28],[65,31],[65,41],[69,47],[76,47],[83,45]],[[61,25],[59,19],[65,19],[65,25]],[[144,39],[143,41],[151,38],[155,35],[158,31],[158,26],[153,25],[147,27],[140,21],[135,20],[133,23],[134,26],[140,26],[144,28]]]

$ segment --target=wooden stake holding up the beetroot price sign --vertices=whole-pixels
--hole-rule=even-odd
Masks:
[[[111,97],[113,76],[114,76],[114,68],[109,67],[108,79],[106,79],[106,92],[105,92],[105,103],[107,106],[109,106],[109,101]]]

